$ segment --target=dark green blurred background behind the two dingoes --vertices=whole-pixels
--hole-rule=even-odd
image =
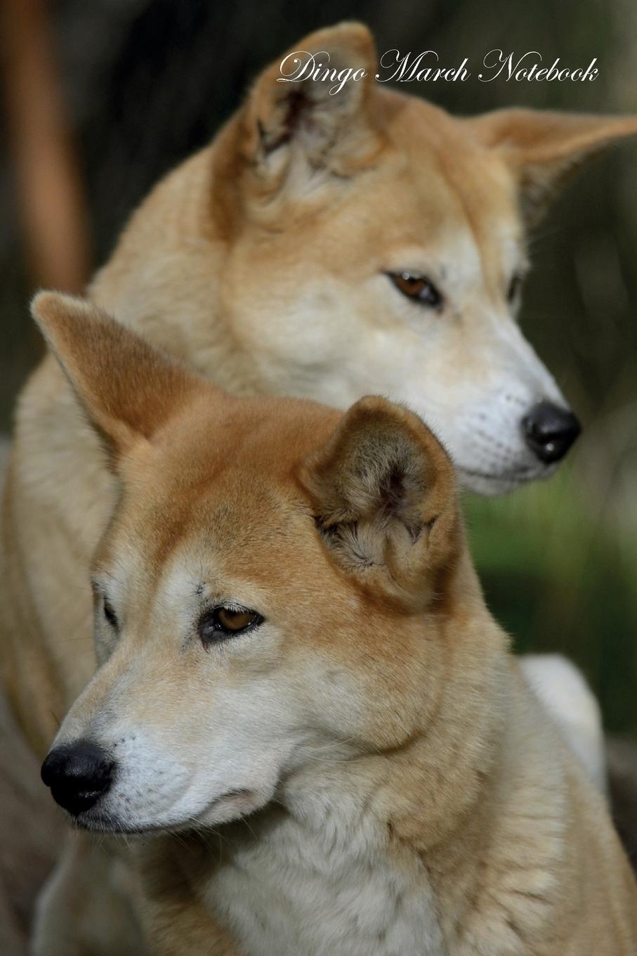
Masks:
[[[215,4],[64,0],[48,7],[89,209],[95,264],[148,188],[214,134],[250,79],[304,33],[361,19],[378,49],[442,62],[535,50],[547,65],[598,58],[594,83],[410,84],[460,114],[507,105],[637,113],[634,0],[393,0]],[[11,58],[5,51],[6,65]],[[3,119],[3,123],[5,120]],[[11,127],[0,157],[0,424],[39,354]],[[584,422],[549,483],[467,498],[489,603],[520,649],[581,664],[606,727],[637,730],[637,141],[596,160],[532,237],[521,324]],[[61,228],[64,228],[63,224]]]

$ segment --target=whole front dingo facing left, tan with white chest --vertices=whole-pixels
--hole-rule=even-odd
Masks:
[[[634,954],[637,886],[432,432],[233,399],[81,300],[34,312],[121,483],[100,667],[43,779],[89,830],[202,831],[141,844],[148,951]]]

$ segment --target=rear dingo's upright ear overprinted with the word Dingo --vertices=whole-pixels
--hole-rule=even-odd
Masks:
[[[335,78],[313,79],[317,69]],[[310,33],[257,79],[244,107],[244,155],[277,187],[297,162],[307,176],[316,170],[351,175],[380,143],[375,72],[367,27],[342,23]]]

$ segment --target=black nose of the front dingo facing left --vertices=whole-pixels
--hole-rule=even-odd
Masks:
[[[113,782],[115,763],[101,747],[80,740],[54,748],[42,764],[53,799],[74,816],[92,807]]]

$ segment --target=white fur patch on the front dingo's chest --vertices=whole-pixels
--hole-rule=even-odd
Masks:
[[[285,817],[223,853],[206,897],[245,956],[443,956],[426,874],[401,872],[365,829]]]

